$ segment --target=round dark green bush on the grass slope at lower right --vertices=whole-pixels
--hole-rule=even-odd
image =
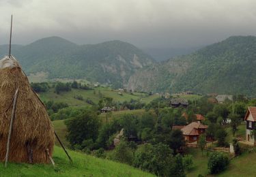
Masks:
[[[223,153],[220,152],[212,152],[210,153],[208,159],[208,169],[211,174],[218,174],[223,172],[227,165],[229,165],[229,158]]]

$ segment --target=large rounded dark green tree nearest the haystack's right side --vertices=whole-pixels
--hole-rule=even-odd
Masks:
[[[66,138],[72,146],[75,144],[81,146],[85,140],[90,139],[95,142],[98,137],[100,120],[96,112],[89,108],[74,118],[66,119],[65,124],[68,129]]]

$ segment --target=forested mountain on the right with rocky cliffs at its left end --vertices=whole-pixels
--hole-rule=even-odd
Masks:
[[[131,76],[128,88],[256,96],[255,68],[256,37],[234,36],[192,54],[141,69]]]

